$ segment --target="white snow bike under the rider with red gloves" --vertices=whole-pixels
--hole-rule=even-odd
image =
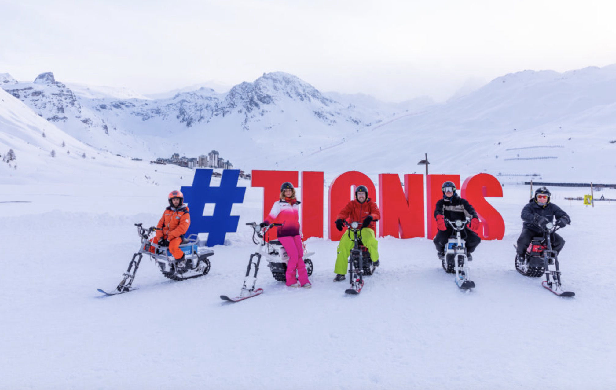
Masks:
[[[468,254],[466,253],[466,240],[462,238],[464,226],[470,221],[471,219],[468,217],[465,221],[462,221],[461,219],[450,221],[445,218],[445,222],[452,225],[453,232],[452,236],[448,239],[445,256],[441,259],[445,272],[448,274],[455,273],[456,285],[464,290],[474,288],[475,286],[475,282],[469,280],[468,262],[470,260],[468,258]],[[453,234],[454,232],[455,235]]]

